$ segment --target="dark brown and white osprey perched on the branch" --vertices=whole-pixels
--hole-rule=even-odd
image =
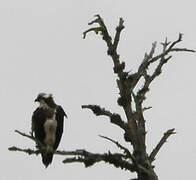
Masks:
[[[52,94],[40,93],[35,102],[39,103],[39,107],[33,112],[32,135],[38,142],[42,162],[47,168],[60,143],[64,116],[67,115],[63,108],[54,102]]]

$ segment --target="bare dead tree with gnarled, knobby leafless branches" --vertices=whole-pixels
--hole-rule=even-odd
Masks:
[[[137,180],[158,180],[158,176],[154,171],[153,161],[158,154],[161,147],[167,141],[170,135],[175,134],[175,129],[169,129],[166,131],[154,147],[151,153],[146,151],[146,119],[144,117],[144,111],[151,107],[144,107],[143,103],[146,99],[146,94],[150,90],[150,85],[162,72],[162,67],[171,58],[173,52],[195,52],[194,50],[186,48],[176,47],[178,43],[182,41],[182,34],[176,41],[168,42],[167,38],[161,43],[163,49],[162,52],[155,55],[155,48],[157,43],[152,44],[152,48],[149,53],[144,55],[140,66],[135,73],[125,71],[125,62],[120,61],[120,56],[117,52],[117,47],[120,40],[120,35],[124,29],[124,21],[122,18],[119,20],[119,24],[116,27],[116,33],[114,38],[108,32],[107,26],[103,19],[99,16],[95,16],[96,19],[89,23],[89,25],[97,24],[98,26],[88,29],[83,33],[84,38],[87,33],[93,31],[96,34],[100,34],[107,45],[107,54],[113,61],[113,71],[117,75],[117,86],[119,89],[119,98],[117,103],[123,108],[126,115],[126,119],[123,120],[117,113],[112,113],[99,105],[82,105],[82,109],[90,109],[96,116],[107,116],[112,124],[115,124],[121,128],[124,132],[124,140],[131,144],[133,150],[130,150],[122,146],[119,142],[105,136],[102,138],[111,141],[122,153],[92,153],[84,149],[75,151],[56,151],[55,154],[69,156],[63,163],[80,162],[84,163],[85,167],[90,167],[95,163],[104,161],[116,168],[128,170],[130,172],[137,173]],[[149,72],[151,65],[156,63],[155,69],[152,73]],[[140,80],[144,80],[143,85],[136,88]],[[16,131],[20,135],[30,138],[36,142],[36,139],[30,135]],[[21,149],[15,146],[9,148],[10,151],[22,151],[29,155],[39,154],[39,150]],[[71,156],[71,157],[70,157]]]

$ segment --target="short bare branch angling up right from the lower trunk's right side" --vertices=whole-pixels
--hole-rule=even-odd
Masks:
[[[161,140],[159,141],[159,143],[153,149],[153,151],[151,152],[149,156],[150,162],[153,162],[155,160],[155,156],[157,155],[157,153],[159,152],[163,144],[167,141],[169,136],[172,134],[176,134],[175,129],[169,129],[167,132],[164,133],[163,137],[161,138]]]

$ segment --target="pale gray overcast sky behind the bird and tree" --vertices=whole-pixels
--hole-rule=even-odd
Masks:
[[[64,165],[55,156],[47,169],[40,156],[9,152],[12,145],[34,147],[33,142],[14,133],[29,132],[31,115],[39,92],[53,93],[67,112],[59,149],[85,148],[93,152],[118,149],[98,137],[123,142],[122,132],[105,117],[95,117],[82,104],[100,104],[123,116],[117,106],[118,89],[106,45],[93,33],[82,32],[100,14],[112,34],[119,17],[125,26],[119,46],[127,70],[134,71],[154,41],[176,40],[184,34],[181,47],[196,49],[195,1],[191,0],[1,0],[0,1],[0,106],[1,180],[130,179],[134,175],[100,163],[85,169],[82,164]],[[157,156],[160,179],[195,179],[196,145],[194,54],[182,53],[164,67],[153,83],[146,105],[148,152],[169,128],[178,132]],[[124,116],[123,116],[124,117]]]

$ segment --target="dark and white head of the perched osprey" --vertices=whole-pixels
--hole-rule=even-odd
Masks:
[[[35,99],[35,102],[38,102],[40,104],[40,107],[43,108],[56,107],[52,94],[39,93],[37,98]]]

